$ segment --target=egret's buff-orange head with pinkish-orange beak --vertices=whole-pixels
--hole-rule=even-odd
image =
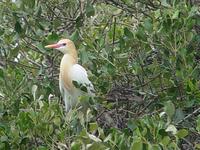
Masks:
[[[45,48],[54,48],[61,51],[63,54],[76,53],[75,45],[69,39],[62,39],[56,44],[50,44],[45,46]]]

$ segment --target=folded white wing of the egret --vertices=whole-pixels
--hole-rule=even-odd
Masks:
[[[70,71],[72,81],[76,81],[80,86],[86,87],[87,92],[91,96],[94,96],[94,87],[88,79],[86,70],[81,65],[75,64],[72,66]]]

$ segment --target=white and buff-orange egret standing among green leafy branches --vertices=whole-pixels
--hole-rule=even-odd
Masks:
[[[76,105],[79,96],[94,96],[94,87],[88,79],[86,70],[77,64],[77,50],[71,40],[62,39],[45,48],[54,48],[64,54],[60,63],[59,87],[67,112]]]

